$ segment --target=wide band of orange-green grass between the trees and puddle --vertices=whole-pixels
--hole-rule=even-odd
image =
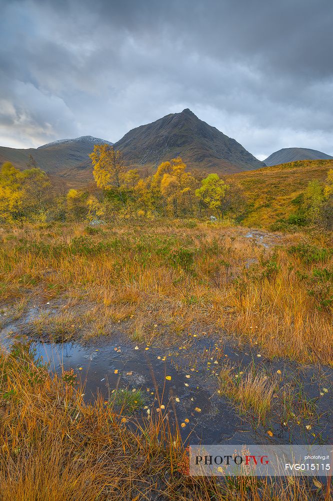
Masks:
[[[270,358],[330,364],[329,234],[269,234],[279,245],[264,248],[245,233],[181,220],[105,225],[89,236],[83,224],[12,228],[0,242],[2,307],[18,298],[24,308],[58,307],[30,321],[51,339],[116,330],[137,342],[177,342],[217,330]]]

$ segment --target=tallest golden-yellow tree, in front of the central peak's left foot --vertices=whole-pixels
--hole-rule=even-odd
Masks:
[[[123,178],[126,168],[121,152],[108,144],[95,144],[89,156],[97,186],[106,191],[112,190],[124,203]]]

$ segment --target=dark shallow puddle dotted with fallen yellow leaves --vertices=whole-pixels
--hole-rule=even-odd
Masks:
[[[30,310],[27,317],[18,322],[2,323],[0,339],[2,346],[10,348],[13,336],[22,332],[21,326],[27,320],[37,318],[41,310]],[[184,428],[180,428],[183,440],[190,443],[202,441],[206,444],[218,443],[311,443],[325,442],[331,436],[332,424],[329,419],[331,408],[331,392],[319,397],[319,379],[317,367],[300,368],[294,362],[281,360],[269,361],[257,358],[257,352],[244,348],[243,351],[234,348],[226,339],[221,341],[208,336],[182,336],[179,345],[157,347],[124,341],[103,338],[103,341],[91,342],[88,345],[79,343],[42,343],[34,341],[32,347],[37,356],[49,364],[50,370],[61,374],[63,370],[74,369],[78,379],[84,383],[84,399],[92,400],[97,393],[107,400],[113,389],[140,389],[145,395],[145,405],[151,412],[158,407],[155,398],[155,379],[161,404],[169,410],[169,421],[174,426],[175,416],[170,404],[170,397],[175,401],[176,418],[178,423],[189,420]],[[183,348],[185,347],[185,349]],[[146,349],[148,348],[148,349]],[[315,399],[320,405],[320,419],[311,423],[310,431],[304,432],[295,422],[292,429],[281,423],[279,415],[274,416],[274,422],[269,423],[273,437],[267,435],[267,424],[257,426],[255,418],[249,422],[245,420],[234,404],[225,396],[217,393],[217,375],[225,360],[228,360],[235,373],[246,370],[250,363],[256,369],[264,368],[271,374],[282,370],[286,374],[285,381],[290,384],[298,378],[303,384],[302,392],[308,399]],[[217,363],[216,363],[217,362]],[[298,371],[298,373],[297,373]],[[299,372],[300,371],[300,372]],[[289,379],[287,375],[289,373]],[[298,374],[296,376],[296,373]],[[165,379],[170,376],[171,380]],[[189,376],[189,377],[186,377]],[[329,383],[325,383],[329,386]],[[179,402],[178,402],[179,399]],[[198,412],[195,409],[200,409]],[[144,415],[146,410],[142,410]],[[138,415],[138,414],[137,414]],[[188,434],[191,432],[188,439]],[[313,437],[312,433],[315,435]]]

